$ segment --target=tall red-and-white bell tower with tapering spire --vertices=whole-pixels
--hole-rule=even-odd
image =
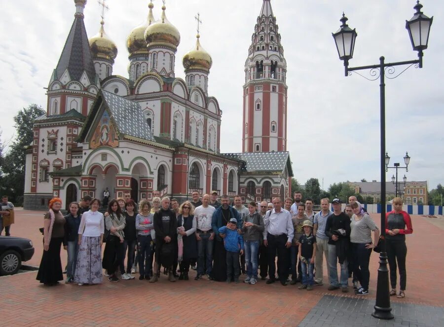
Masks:
[[[242,152],[287,150],[287,63],[270,0],[263,0],[245,62]]]

